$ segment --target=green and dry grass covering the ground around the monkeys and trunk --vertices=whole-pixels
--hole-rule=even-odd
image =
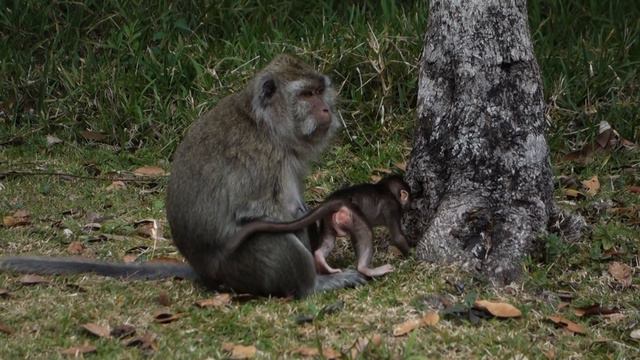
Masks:
[[[220,358],[224,342],[255,345],[258,357],[295,357],[317,344],[350,354],[358,338],[380,334],[361,358],[632,358],[640,344],[629,333],[640,321],[637,278],[622,288],[608,274],[615,260],[638,269],[640,184],[638,151],[599,153],[588,163],[563,154],[594,141],[607,121],[640,143],[640,5],[634,1],[547,0],[529,4],[530,25],[549,104],[549,143],[557,175],[578,182],[594,175],[595,196],[557,200],[587,218],[591,230],[567,243],[546,238],[545,254],[524,264],[517,286],[488,287],[455,269],[400,259],[380,245],[376,262],[396,272],[354,290],[302,301],[252,299],[200,309],[212,296],[186,281],[121,282],[96,276],[51,277],[24,286],[0,274],[2,358],[55,358],[59,350],[89,343],[97,358],[139,358],[144,352],[79,330],[96,322],[134,325],[157,335],[156,358]],[[308,179],[317,199],[345,183],[403,162],[415,118],[417,60],[426,5],[416,1],[141,2],[0,1],[0,172],[60,171],[92,176],[143,165],[168,169],[182,133],[199,114],[238,90],[255,69],[281,52],[296,53],[329,73],[342,97],[345,131]],[[88,140],[83,131],[100,133]],[[46,136],[64,142],[47,146]],[[164,222],[165,179],[127,183],[59,176],[0,178],[0,215],[26,209],[30,225],[0,227],[3,254],[66,255],[79,241],[97,258],[120,260],[128,250],[141,260],[177,256],[169,241],[137,236],[134,223]],[[76,212],[69,214],[68,210]],[[621,210],[622,209],[622,210]],[[108,216],[93,241],[83,231],[91,213]],[[73,232],[70,238],[62,229]],[[119,237],[114,237],[117,235]],[[344,245],[331,259],[349,266]],[[561,308],[558,292],[569,292]],[[158,324],[153,314],[167,294],[182,317]],[[500,299],[523,310],[515,320],[450,316],[434,328],[393,337],[393,327],[428,309],[438,297],[463,303]],[[435,300],[434,300],[435,299]],[[336,301],[344,308],[298,325]],[[566,301],[566,299],[564,300]],[[576,307],[618,307],[620,316],[580,318]],[[440,305],[439,305],[440,304]],[[561,313],[587,329],[571,335],[545,320]]]

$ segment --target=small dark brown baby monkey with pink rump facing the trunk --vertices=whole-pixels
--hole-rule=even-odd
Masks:
[[[227,242],[226,249],[232,253],[255,232],[293,232],[320,220],[319,239],[311,243],[318,272],[333,274],[341,271],[329,266],[326,257],[333,250],[336,237],[348,235],[356,252],[357,270],[369,277],[384,275],[393,271],[390,264],[369,267],[373,257],[372,228],[387,227],[391,242],[406,256],[409,244],[402,233],[400,219],[410,201],[410,189],[402,177],[387,176],[375,184],[360,184],[338,190],[329,195],[320,206],[295,221],[250,222]]]

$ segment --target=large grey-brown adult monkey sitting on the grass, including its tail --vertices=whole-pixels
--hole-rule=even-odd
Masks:
[[[294,297],[364,283],[356,271],[316,274],[306,231],[256,234],[222,256],[243,223],[290,221],[304,213],[308,164],[339,127],[335,96],[328,77],[282,55],[191,126],[174,155],[167,194],[173,239],[191,268],[6,257],[0,269],[132,278],[192,278],[194,270],[209,287]]]

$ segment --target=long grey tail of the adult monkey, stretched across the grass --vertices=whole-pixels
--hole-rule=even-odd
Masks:
[[[123,264],[73,257],[0,257],[0,270],[41,275],[94,273],[102,276],[136,280],[166,278],[193,280],[197,278],[196,273],[187,264]]]

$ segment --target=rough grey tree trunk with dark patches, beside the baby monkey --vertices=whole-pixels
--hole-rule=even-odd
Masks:
[[[526,1],[432,0],[419,77],[409,238],[509,283],[554,211]]]

